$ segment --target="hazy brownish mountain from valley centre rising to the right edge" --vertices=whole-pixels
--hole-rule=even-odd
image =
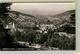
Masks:
[[[65,22],[70,22],[71,14],[75,14],[75,10],[69,10],[56,15],[34,15],[40,24],[60,25]]]

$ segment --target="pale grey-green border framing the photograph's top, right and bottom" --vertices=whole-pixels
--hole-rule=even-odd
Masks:
[[[0,2],[74,2],[75,0],[0,0]],[[76,1],[76,51],[0,51],[0,54],[80,54],[80,0]]]

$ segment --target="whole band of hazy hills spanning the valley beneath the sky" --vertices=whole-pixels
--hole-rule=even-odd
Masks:
[[[33,27],[35,24],[53,24],[60,25],[70,22],[71,14],[75,14],[75,10],[69,10],[56,15],[30,15],[23,14],[18,11],[10,11],[9,21],[14,22],[18,27]]]

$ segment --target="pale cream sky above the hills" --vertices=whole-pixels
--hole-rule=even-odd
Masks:
[[[13,3],[11,5],[11,10],[25,14],[55,15],[74,9],[75,3]]]

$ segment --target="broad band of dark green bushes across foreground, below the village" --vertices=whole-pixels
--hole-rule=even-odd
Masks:
[[[24,32],[16,32],[17,40],[27,41],[30,43],[44,44],[45,46],[56,47],[61,50],[74,50],[75,49],[75,36],[69,38],[66,35],[59,35],[59,32],[48,30],[48,33],[39,33],[34,29],[27,29]]]

